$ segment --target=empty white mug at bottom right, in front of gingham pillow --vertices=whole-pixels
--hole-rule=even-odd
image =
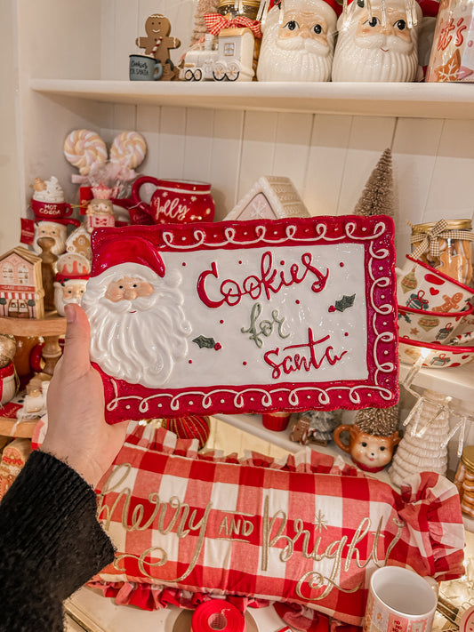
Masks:
[[[438,603],[434,585],[400,566],[378,568],[370,579],[364,632],[430,632]]]

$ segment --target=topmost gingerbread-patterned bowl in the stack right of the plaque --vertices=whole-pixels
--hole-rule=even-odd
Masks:
[[[461,312],[474,296],[468,285],[406,255],[397,273],[398,305],[431,312]]]

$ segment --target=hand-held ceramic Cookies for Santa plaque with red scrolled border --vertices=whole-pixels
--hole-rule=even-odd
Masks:
[[[92,251],[109,421],[398,400],[390,218],[100,228]]]

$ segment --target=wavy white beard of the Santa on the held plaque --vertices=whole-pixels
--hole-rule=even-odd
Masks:
[[[133,275],[151,283],[155,292],[135,300],[113,302],[104,297],[106,285],[119,276],[93,277],[82,307],[91,324],[91,359],[112,377],[148,388],[165,385],[176,360],[186,356],[191,326],[184,316],[182,294],[154,275]],[[179,275],[178,275],[179,276]],[[133,313],[130,313],[133,312]]]

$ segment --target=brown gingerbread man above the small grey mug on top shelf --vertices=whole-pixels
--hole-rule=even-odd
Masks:
[[[146,55],[152,55],[163,66],[162,80],[175,79],[179,71],[174,68],[170,59],[170,49],[179,48],[181,41],[177,37],[170,37],[170,20],[161,13],[153,13],[145,22],[146,37],[137,37],[135,44],[145,49]]]

